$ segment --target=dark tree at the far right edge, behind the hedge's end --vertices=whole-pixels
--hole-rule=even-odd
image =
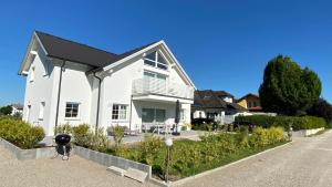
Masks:
[[[313,106],[308,110],[308,114],[323,117],[329,124],[332,123],[332,105],[324,98],[317,101]]]

